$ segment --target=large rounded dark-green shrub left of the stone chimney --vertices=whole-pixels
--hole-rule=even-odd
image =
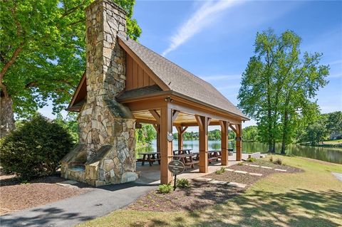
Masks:
[[[51,175],[72,147],[72,138],[63,127],[35,115],[1,139],[1,166],[23,180]]]

